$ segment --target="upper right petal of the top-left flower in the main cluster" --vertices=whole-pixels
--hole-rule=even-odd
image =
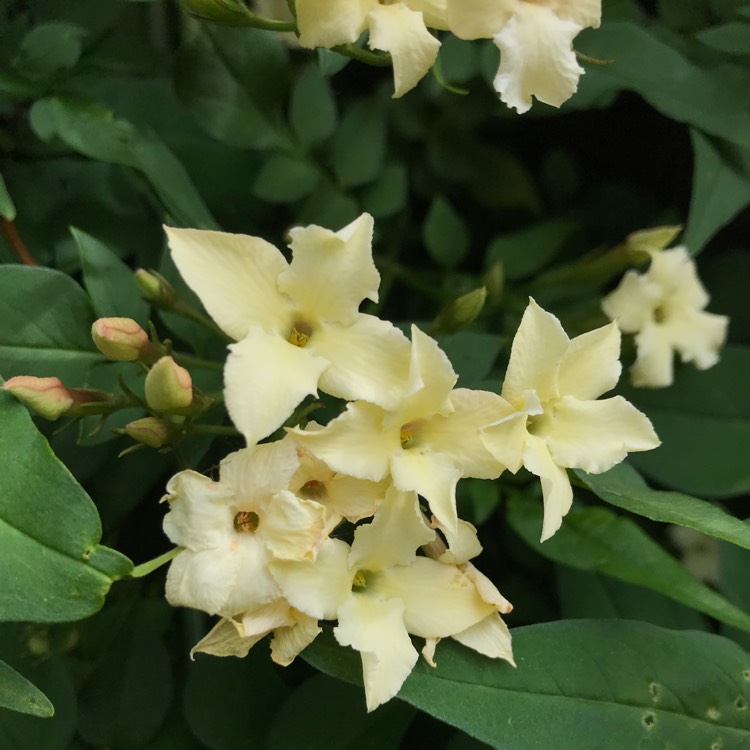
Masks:
[[[349,325],[367,297],[378,301],[380,274],[372,259],[373,219],[362,214],[338,232],[316,225],[294,227],[292,262],[279,289],[305,315]]]

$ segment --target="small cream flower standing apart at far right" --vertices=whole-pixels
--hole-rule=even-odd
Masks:
[[[674,354],[700,370],[719,361],[729,318],[704,312],[709,296],[684,247],[651,253],[646,273],[628,271],[602,300],[607,317],[635,333],[633,385],[661,388],[674,380]]]

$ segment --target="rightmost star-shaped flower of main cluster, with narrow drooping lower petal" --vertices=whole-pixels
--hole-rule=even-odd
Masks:
[[[516,411],[482,436],[510,471],[523,465],[541,478],[542,541],[560,528],[573,502],[566,468],[599,474],[628,452],[659,445],[648,418],[622,396],[596,400],[615,387],[619,356],[614,323],[571,340],[534,300],[524,312],[502,391]]]

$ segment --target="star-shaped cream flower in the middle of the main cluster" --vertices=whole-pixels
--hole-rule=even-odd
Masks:
[[[441,523],[456,529],[456,483],[494,479],[503,471],[479,430],[513,409],[495,393],[456,388],[456,373],[437,342],[412,326],[409,386],[390,410],[354,401],[322,430],[292,430],[295,439],[333,469],[379,482],[390,473],[414,490]]]

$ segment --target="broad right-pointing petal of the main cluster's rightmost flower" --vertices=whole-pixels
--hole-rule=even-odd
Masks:
[[[602,401],[561,398],[554,411],[537,417],[534,432],[547,442],[558,466],[601,474],[628,452],[659,445],[648,417],[622,396]]]

